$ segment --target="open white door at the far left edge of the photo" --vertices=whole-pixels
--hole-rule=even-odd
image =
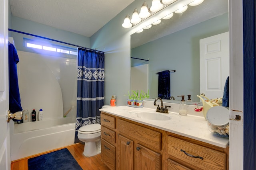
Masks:
[[[0,170],[10,170],[10,134],[6,122],[8,86],[8,0],[0,1]]]

